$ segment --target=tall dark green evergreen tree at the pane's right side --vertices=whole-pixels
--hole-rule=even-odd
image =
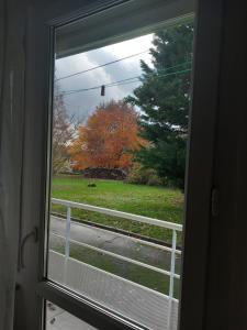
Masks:
[[[156,33],[153,67],[141,62],[142,85],[127,98],[141,109],[142,136],[150,142],[136,160],[180,188],[184,186],[192,41],[192,22]]]

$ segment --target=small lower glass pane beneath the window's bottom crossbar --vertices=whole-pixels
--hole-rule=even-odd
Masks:
[[[96,330],[82,320],[54,305],[46,301],[46,330]]]

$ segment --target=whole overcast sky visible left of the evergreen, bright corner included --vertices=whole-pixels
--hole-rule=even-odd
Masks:
[[[139,61],[144,59],[151,65],[148,50],[151,47],[153,34],[132,38],[94,51],[64,57],[56,61],[56,78],[77,72],[87,70],[96,66],[120,59],[133,54],[145,52],[132,58],[97,68],[67,79],[58,80],[60,91],[91,88],[122,79],[132,78],[142,74]],[[86,119],[96,110],[96,107],[111,99],[121,100],[133,92],[141,82],[133,82],[115,87],[105,87],[105,96],[100,95],[100,89],[77,92],[64,96],[65,105],[70,114]]]

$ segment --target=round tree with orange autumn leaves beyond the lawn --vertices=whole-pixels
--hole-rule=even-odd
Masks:
[[[133,151],[146,144],[138,134],[138,113],[123,101],[97,108],[70,146],[75,169],[88,167],[128,168]]]

